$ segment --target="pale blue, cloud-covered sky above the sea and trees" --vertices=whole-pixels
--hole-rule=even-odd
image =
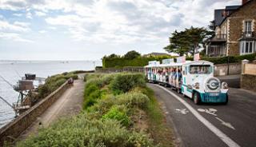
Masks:
[[[207,27],[242,0],[0,0],[0,60],[100,60],[165,52],[174,30]]]

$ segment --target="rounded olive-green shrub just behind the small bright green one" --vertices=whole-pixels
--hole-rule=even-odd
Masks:
[[[138,107],[146,109],[150,99],[143,93],[130,92],[117,96],[117,102],[119,105],[127,105],[128,108]]]

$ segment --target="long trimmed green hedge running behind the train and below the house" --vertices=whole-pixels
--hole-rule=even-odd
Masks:
[[[122,68],[126,66],[146,66],[150,61],[160,61],[162,59],[166,59],[168,57],[140,57],[134,59],[125,59],[125,58],[103,58],[102,65],[103,68]],[[170,58],[170,57],[169,57]],[[246,54],[242,56],[229,56],[229,57],[202,57],[202,60],[206,60],[209,62],[213,62],[214,64],[224,64],[227,63],[228,60],[230,63],[241,62],[244,59],[249,61],[253,61],[256,59],[256,54]],[[186,60],[193,61],[193,58],[186,58]]]

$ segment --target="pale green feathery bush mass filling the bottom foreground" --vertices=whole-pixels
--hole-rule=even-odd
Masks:
[[[18,147],[26,146],[154,146],[148,136],[122,127],[118,121],[89,120],[78,116],[61,120],[47,129],[41,129],[37,136],[18,142]]]

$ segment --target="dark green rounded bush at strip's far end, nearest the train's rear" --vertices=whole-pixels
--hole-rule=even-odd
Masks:
[[[143,74],[117,74],[111,83],[115,93],[126,93],[136,86],[146,86]]]

